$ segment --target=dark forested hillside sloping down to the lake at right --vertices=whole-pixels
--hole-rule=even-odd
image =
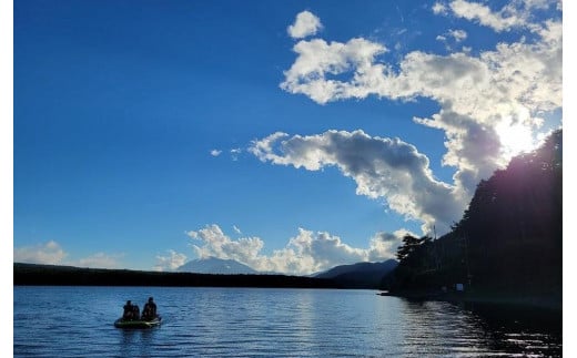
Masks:
[[[533,295],[558,299],[563,283],[563,132],[482,181],[463,218],[438,239],[405,236],[392,291]]]

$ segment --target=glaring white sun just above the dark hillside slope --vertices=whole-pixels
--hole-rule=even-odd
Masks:
[[[519,153],[530,152],[535,149],[533,131],[529,125],[504,121],[495,130],[499,136],[503,155],[506,158],[510,158]]]

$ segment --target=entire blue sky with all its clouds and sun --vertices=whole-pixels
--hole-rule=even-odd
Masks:
[[[547,0],[16,1],[13,262],[394,258],[561,127],[561,17]]]

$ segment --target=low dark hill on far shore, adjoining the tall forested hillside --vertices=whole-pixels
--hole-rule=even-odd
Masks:
[[[313,275],[316,278],[331,278],[346,288],[378,288],[383,277],[396,268],[395,259],[382,263],[357,263],[341,265],[324,273]]]

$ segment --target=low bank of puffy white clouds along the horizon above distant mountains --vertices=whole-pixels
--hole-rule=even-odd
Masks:
[[[307,275],[336,265],[393,258],[404,233],[399,231],[388,236],[379,233],[370,239],[367,248],[355,248],[326,232],[300,228],[284,248],[269,256],[262,254],[264,242],[261,238],[232,239],[215,224],[191,231],[188,235],[202,243],[192,246],[199,257],[235,259],[260,272]]]

